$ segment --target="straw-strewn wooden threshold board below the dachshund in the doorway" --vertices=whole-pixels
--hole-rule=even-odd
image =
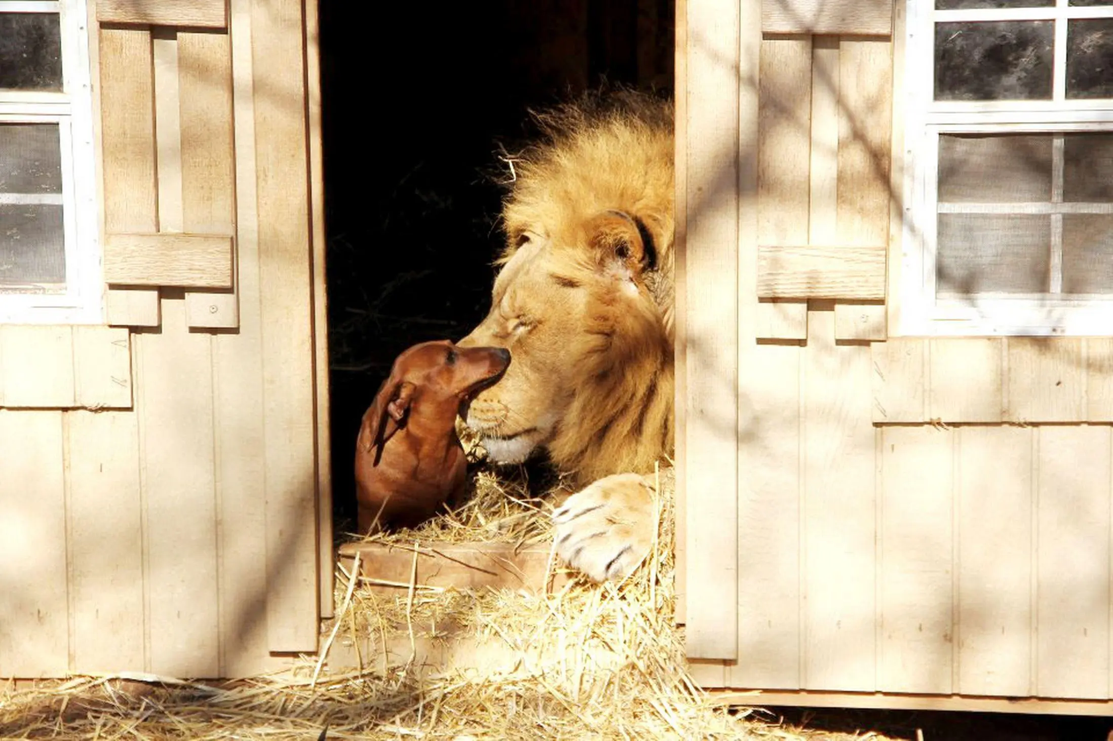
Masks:
[[[414,546],[385,543],[345,543],[337,557],[348,571],[359,554],[363,586],[378,592],[404,592],[415,587],[508,589],[542,592],[549,569],[549,546],[516,549],[513,543],[422,543],[417,545],[414,577]],[[559,562],[549,574],[549,589],[571,581],[571,572]]]

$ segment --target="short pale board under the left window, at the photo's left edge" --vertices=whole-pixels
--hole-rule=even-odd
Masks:
[[[73,406],[73,333],[70,327],[0,325],[3,405]],[[2,449],[2,448],[0,448]]]

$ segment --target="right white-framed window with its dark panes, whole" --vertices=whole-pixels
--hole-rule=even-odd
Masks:
[[[1113,335],[1113,0],[908,0],[899,334]]]

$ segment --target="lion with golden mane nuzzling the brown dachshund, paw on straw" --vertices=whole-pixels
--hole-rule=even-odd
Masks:
[[[571,481],[556,552],[602,582],[656,530],[646,474],[673,445],[673,139],[668,101],[621,93],[538,117],[512,160],[491,310],[462,345],[510,350],[465,422],[496,463],[544,449]]]

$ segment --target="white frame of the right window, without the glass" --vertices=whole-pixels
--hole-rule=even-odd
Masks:
[[[937,298],[935,255],[940,134],[1113,132],[1113,100],[1067,100],[1066,19],[1113,18],[1113,6],[935,10],[935,0],[906,0],[905,179],[897,335],[1113,335],[1113,294],[976,294]],[[935,101],[935,27],[948,21],[1052,20],[1055,24],[1052,100]],[[897,98],[900,100],[900,97]],[[1053,177],[1062,178],[1062,139],[1053,145]],[[1018,207],[1017,207],[1018,206]],[[1009,205],[1009,211],[1024,205]],[[1031,213],[1040,206],[1030,205]],[[1102,210],[1101,213],[1105,213]],[[1113,206],[1109,213],[1113,213]],[[1053,236],[1054,240],[1054,236]],[[1052,280],[1061,274],[1053,247]],[[1061,275],[1060,275],[1061,277]]]

